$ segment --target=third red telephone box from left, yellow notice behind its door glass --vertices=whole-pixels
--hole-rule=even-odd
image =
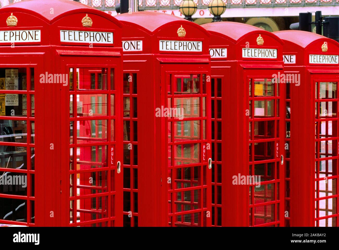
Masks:
[[[283,42],[242,23],[202,27],[211,33],[212,225],[283,226]]]

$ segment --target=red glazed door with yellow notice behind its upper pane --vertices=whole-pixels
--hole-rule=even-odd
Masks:
[[[248,89],[250,226],[283,226],[283,100],[278,70],[245,71]],[[247,115],[246,114],[246,115]],[[259,180],[260,177],[260,180]],[[258,185],[259,183],[259,185]]]

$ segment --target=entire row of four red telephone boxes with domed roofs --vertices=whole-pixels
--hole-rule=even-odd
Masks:
[[[0,223],[339,225],[336,41],[68,0],[0,23],[1,179],[27,179]]]

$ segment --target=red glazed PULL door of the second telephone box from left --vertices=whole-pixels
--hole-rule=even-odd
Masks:
[[[168,226],[211,226],[211,85],[207,77],[206,65],[161,65],[163,106],[168,108],[163,114],[162,183],[167,183],[163,184],[167,201],[162,201],[162,207]]]

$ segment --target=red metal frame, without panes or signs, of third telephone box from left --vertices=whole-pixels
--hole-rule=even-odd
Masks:
[[[285,134],[282,126],[279,129],[276,127],[279,122],[282,124],[284,119],[284,86],[279,84],[279,97],[274,95],[273,97],[249,97],[248,82],[250,79],[255,78],[268,78],[271,79],[273,74],[278,74],[282,71],[282,44],[283,42],[272,35],[270,32],[266,32],[260,28],[235,23],[235,22],[218,22],[208,23],[202,25],[208,32],[211,33],[210,49],[215,48],[227,48],[226,58],[211,58],[211,74],[214,81],[214,95],[212,94],[212,101],[214,101],[215,110],[212,111],[212,121],[214,122],[214,129],[212,130],[212,143],[214,144],[215,153],[213,154],[214,164],[214,178],[212,179],[212,185],[214,186],[214,220],[212,224],[214,226],[284,226],[283,218],[283,176],[284,172],[280,166],[280,155],[284,155],[283,147],[283,135]],[[264,39],[264,45],[257,45],[256,39],[261,35]],[[242,58],[242,48],[275,48],[277,49],[277,58],[275,59],[260,59],[260,58]],[[218,87],[217,79],[221,79],[221,86]],[[212,82],[213,83],[213,82]],[[213,85],[212,85],[213,88]],[[218,90],[220,89],[220,90]],[[254,85],[252,86],[254,92]],[[219,92],[219,93],[218,93]],[[276,92],[276,88],[274,88]],[[252,195],[252,202],[250,203],[249,188],[254,190],[254,185],[249,187],[248,185],[233,185],[233,176],[241,175],[253,175],[253,167],[249,165],[249,148],[248,143],[260,142],[248,141],[249,122],[272,120],[270,118],[254,118],[249,119],[246,116],[246,110],[249,109],[248,103],[250,100],[264,100],[264,99],[280,99],[279,114],[275,116],[275,137],[268,139],[268,141],[274,141],[279,144],[278,155],[271,160],[260,161],[260,163],[275,162],[275,175],[273,180],[262,182],[262,185],[280,185],[279,189],[274,187],[274,197],[270,202],[264,202],[263,205],[274,205],[274,218],[271,222],[267,223],[254,223],[255,217],[260,217],[257,214],[249,216],[250,209],[255,209],[258,204],[254,204],[254,195]],[[221,104],[218,102],[221,101]],[[274,105],[275,107],[276,105]],[[221,108],[221,110],[219,110]],[[274,108],[276,110],[276,108]],[[254,105],[252,105],[252,114],[254,113]],[[276,114],[277,111],[275,111]],[[221,117],[220,117],[221,113]],[[213,115],[214,114],[214,115]],[[221,123],[221,124],[220,124]],[[221,129],[219,128],[221,126]],[[252,129],[254,132],[254,129]],[[222,133],[220,136],[220,132]],[[261,140],[267,141],[267,139]],[[218,147],[221,146],[221,159],[218,152]],[[252,149],[253,152],[253,149]],[[253,163],[251,163],[253,164]],[[221,167],[221,178],[220,170]],[[267,173],[267,168],[265,168]],[[265,175],[265,174],[264,174]],[[262,178],[265,176],[262,175]],[[221,179],[221,181],[220,181]],[[221,186],[221,194],[220,187]],[[267,185],[266,185],[267,187]],[[212,188],[213,190],[213,188]],[[267,188],[264,189],[267,192]],[[264,193],[265,193],[264,191]],[[252,191],[253,194],[253,191]],[[218,200],[218,196],[221,196]],[[256,196],[256,199],[260,198],[260,195]],[[265,197],[265,200],[266,199]],[[278,208],[279,206],[279,208]],[[220,214],[221,207],[221,214]],[[219,211],[218,211],[219,209]],[[257,210],[257,209],[256,209]],[[212,210],[213,211],[213,210]],[[220,218],[221,215],[221,218]]]

